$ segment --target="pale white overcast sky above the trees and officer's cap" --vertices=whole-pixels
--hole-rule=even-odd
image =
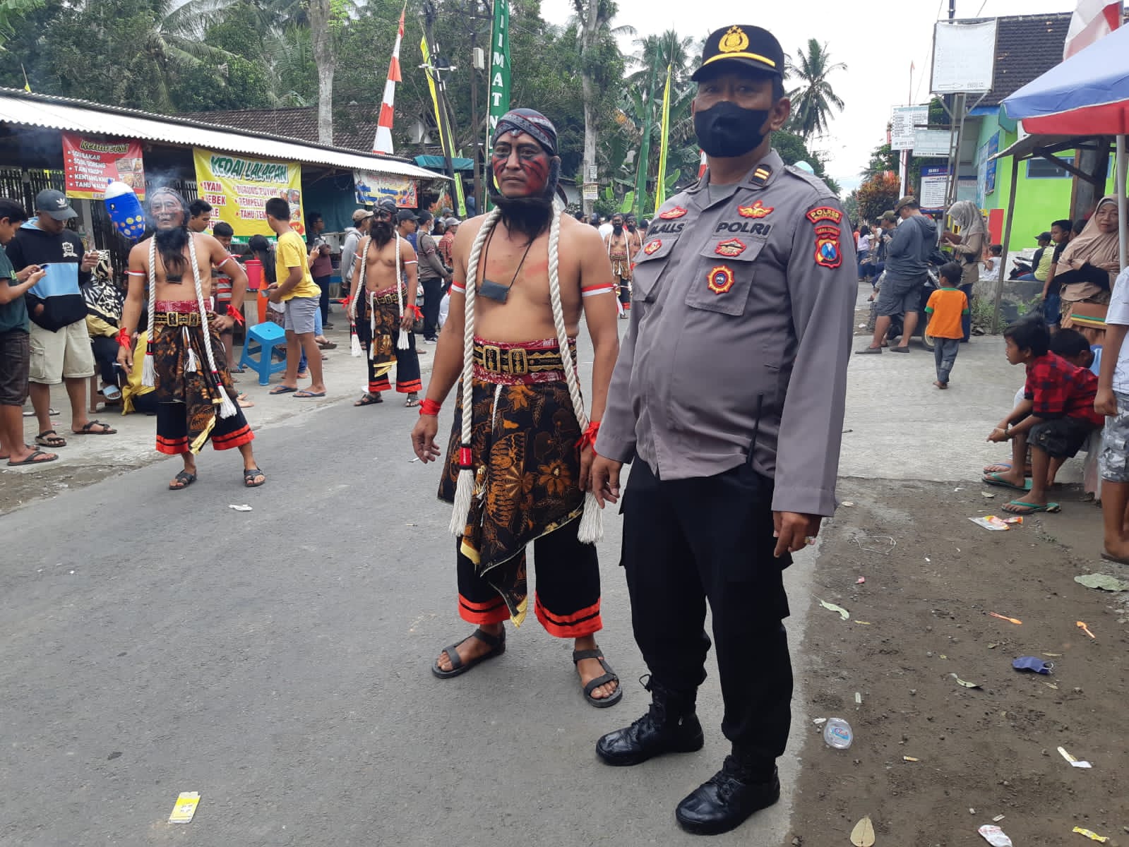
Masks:
[[[843,192],[858,186],[859,172],[870,151],[885,143],[886,122],[893,106],[929,102],[929,66],[933,25],[948,17],[948,0],[891,0],[886,3],[843,3],[835,0],[786,0],[784,2],[688,6],[677,0],[618,0],[613,26],[627,24],[636,36],[621,38],[620,47],[634,53],[636,37],[676,29],[680,35],[702,38],[732,24],[761,26],[795,54],[808,38],[825,42],[831,59],[847,64],[830,79],[844,102],[834,115],[828,136],[808,147],[825,154],[828,174]],[[1003,17],[1073,11],[1075,0],[956,0],[957,18]],[[857,14],[857,10],[865,10]],[[574,15],[571,0],[542,0],[541,14],[551,24],[564,24]],[[910,64],[914,66],[912,80]]]

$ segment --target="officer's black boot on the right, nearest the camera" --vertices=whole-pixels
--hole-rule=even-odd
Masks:
[[[773,766],[751,767],[735,756],[725,757],[721,769],[679,803],[674,817],[686,832],[716,836],[736,829],[753,812],[780,800],[780,777]]]

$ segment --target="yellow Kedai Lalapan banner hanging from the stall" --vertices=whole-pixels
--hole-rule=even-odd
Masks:
[[[212,224],[231,225],[236,237],[273,235],[266,226],[266,201],[280,197],[290,203],[290,226],[306,235],[301,213],[301,167],[294,163],[243,158],[193,148],[196,193],[212,204]]]

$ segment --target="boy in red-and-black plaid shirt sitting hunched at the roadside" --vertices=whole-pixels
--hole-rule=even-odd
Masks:
[[[1058,512],[1047,489],[1058,469],[1086,444],[1089,434],[1105,422],[1094,411],[1097,377],[1050,352],[1050,333],[1042,321],[1023,321],[1004,330],[1007,360],[1025,365],[1027,382],[1023,400],[988,435],[989,442],[1012,442],[1012,468],[984,475],[990,484],[1026,495],[1003,508],[1015,515]],[[1023,477],[1024,457],[1031,445],[1031,488]]]

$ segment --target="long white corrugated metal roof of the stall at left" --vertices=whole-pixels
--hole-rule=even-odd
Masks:
[[[163,141],[243,156],[326,165],[347,171],[371,171],[417,180],[447,178],[443,174],[388,156],[367,155],[285,136],[209,125],[184,117],[156,115],[69,97],[29,94],[12,88],[0,88],[0,123]]]

